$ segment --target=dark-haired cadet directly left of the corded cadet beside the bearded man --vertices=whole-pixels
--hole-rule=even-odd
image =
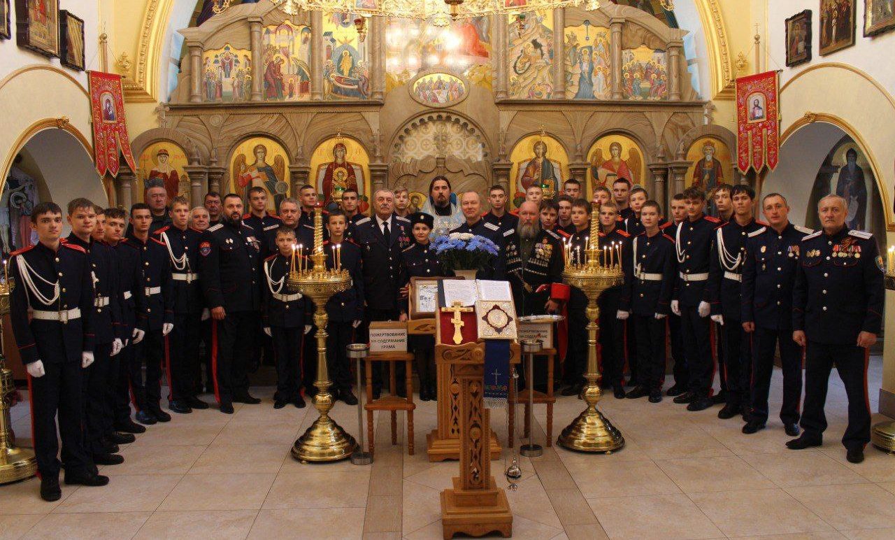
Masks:
[[[152,212],[145,202],[131,207],[131,235],[124,241],[140,253],[142,279],[140,285],[146,299],[146,310],[137,313],[144,320],[145,336],[134,349],[131,387],[137,421],[141,424],[169,422],[171,415],[161,409],[162,356],[165,336],[174,329],[174,286],[171,280],[171,261],[161,240],[149,236]],[[142,364],[146,364],[143,382]],[[170,381],[168,382],[170,384]]]

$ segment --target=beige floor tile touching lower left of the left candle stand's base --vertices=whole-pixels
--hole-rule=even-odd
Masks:
[[[286,444],[212,444],[190,468],[191,475],[278,473],[292,446]]]

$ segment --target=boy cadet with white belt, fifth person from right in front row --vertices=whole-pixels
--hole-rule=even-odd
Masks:
[[[676,266],[674,239],[659,228],[661,209],[656,201],[641,206],[644,232],[631,242],[632,264],[626,267],[625,292],[618,319],[633,316],[637,321],[637,380],[626,394],[637,399],[649,396],[650,403],[662,400],[665,379],[665,318],[668,317]],[[624,265],[623,265],[624,266]]]

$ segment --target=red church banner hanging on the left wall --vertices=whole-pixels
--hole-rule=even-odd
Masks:
[[[90,116],[93,119],[93,155],[99,176],[118,174],[120,156],[137,170],[131,153],[131,139],[124,121],[124,92],[121,75],[88,72],[90,81]]]

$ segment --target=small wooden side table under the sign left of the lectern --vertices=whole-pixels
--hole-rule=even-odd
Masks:
[[[373,397],[373,362],[388,362],[388,396]],[[395,366],[405,363],[406,398],[395,395],[397,381]],[[367,411],[367,435],[370,439],[370,455],[373,455],[375,437],[373,436],[373,411],[391,412],[392,444],[397,444],[397,411],[407,412],[407,453],[413,456],[413,353],[371,353],[364,359],[364,373],[367,375],[367,402],[363,408]]]

